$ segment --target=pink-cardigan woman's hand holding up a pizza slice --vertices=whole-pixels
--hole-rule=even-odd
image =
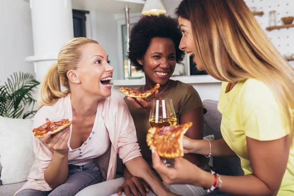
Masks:
[[[70,130],[70,126],[68,126],[54,135],[48,132],[42,140],[50,149],[54,150],[54,152],[65,155],[69,152],[67,144],[71,135]]]

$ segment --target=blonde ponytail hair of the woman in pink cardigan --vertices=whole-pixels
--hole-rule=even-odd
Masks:
[[[77,69],[82,56],[80,48],[90,43],[98,44],[95,40],[80,37],[72,39],[62,47],[57,63],[49,69],[41,82],[38,96],[39,109],[43,105],[53,105],[58,98],[66,97],[71,92],[67,72]],[[66,91],[61,91],[61,85]]]

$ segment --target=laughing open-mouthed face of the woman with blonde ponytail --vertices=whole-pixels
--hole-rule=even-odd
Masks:
[[[77,70],[68,72],[71,85],[80,86],[81,94],[107,98],[111,95],[110,81],[113,67],[106,51],[99,44],[87,44],[81,49],[82,56]],[[84,92],[83,92],[84,91]]]

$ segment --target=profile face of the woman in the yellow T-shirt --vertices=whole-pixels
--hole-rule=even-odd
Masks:
[[[178,21],[183,34],[179,48],[181,50],[185,50],[189,54],[189,56],[194,54],[193,61],[194,63],[196,63],[197,69],[199,71],[204,70],[203,62],[201,61],[199,54],[196,50],[191,22],[182,17],[179,17]]]

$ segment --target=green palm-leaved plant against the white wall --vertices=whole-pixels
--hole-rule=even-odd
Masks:
[[[0,86],[0,116],[23,119],[33,117],[37,112],[34,110],[36,100],[33,93],[39,84],[31,73],[10,75],[7,82]]]

